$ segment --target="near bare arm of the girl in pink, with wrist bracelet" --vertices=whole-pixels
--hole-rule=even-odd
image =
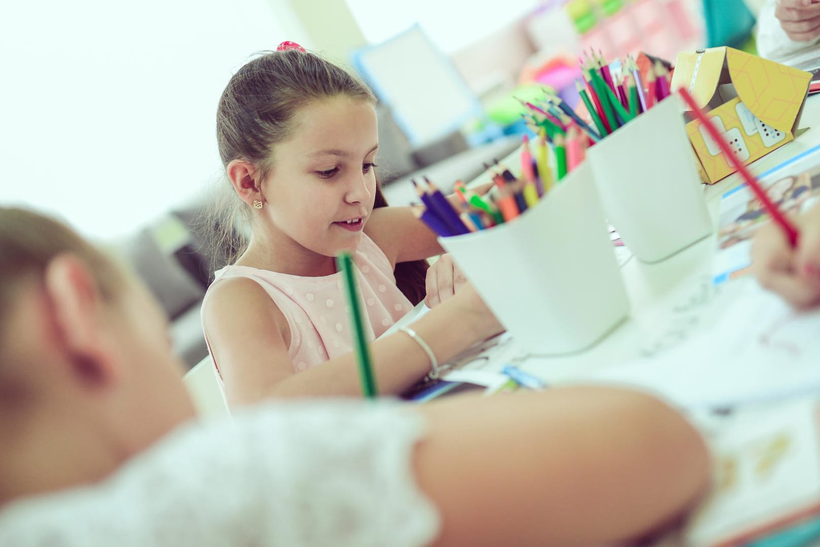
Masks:
[[[231,404],[267,397],[362,394],[353,353],[294,372],[288,356],[287,322],[264,289],[253,280],[230,279],[216,285],[203,304],[203,326]],[[413,323],[439,362],[503,330],[469,285]],[[403,332],[371,344],[380,394],[400,394],[427,372],[430,359]]]

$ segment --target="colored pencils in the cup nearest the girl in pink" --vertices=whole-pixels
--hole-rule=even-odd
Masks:
[[[549,165],[550,147],[545,132],[542,130],[536,144],[535,157],[530,151],[529,138],[524,135],[521,150],[521,174],[514,175],[506,166],[497,160],[494,166],[485,164],[485,170],[493,180],[493,188],[484,195],[478,195],[458,180],[453,189],[455,196],[446,198],[427,177],[424,183],[412,184],[421,198],[422,206],[415,207],[415,213],[437,235],[449,237],[464,235],[477,230],[486,230],[492,226],[512,221],[528,208],[538,203],[556,180],[583,159],[584,147],[581,132],[570,126],[566,132],[566,143],[563,135],[553,139],[552,153],[556,173]],[[577,143],[577,149],[568,146]]]

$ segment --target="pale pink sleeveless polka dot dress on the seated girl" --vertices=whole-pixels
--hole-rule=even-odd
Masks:
[[[353,263],[366,316],[365,335],[367,340],[376,340],[409,312],[412,304],[396,287],[393,268],[385,253],[365,234],[353,253]],[[247,266],[227,266],[216,271],[215,276],[211,286],[231,277],[247,277],[265,289],[288,321],[288,355],[296,372],[353,351],[341,272],[302,277]]]

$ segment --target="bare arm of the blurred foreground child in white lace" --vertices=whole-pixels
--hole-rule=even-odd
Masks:
[[[648,395],[573,387],[418,408],[434,545],[611,545],[668,524],[708,485],[708,454]]]

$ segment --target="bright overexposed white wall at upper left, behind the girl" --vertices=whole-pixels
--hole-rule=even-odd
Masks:
[[[0,203],[94,239],[201,194],[230,75],[312,45],[285,0],[7,0],[0,21]]]

